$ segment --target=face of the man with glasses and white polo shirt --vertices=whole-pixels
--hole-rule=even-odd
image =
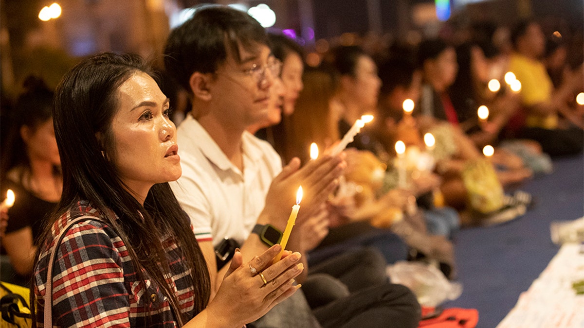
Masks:
[[[210,92],[216,102],[218,118],[230,127],[244,129],[267,120],[270,93],[280,65],[270,48],[257,44],[253,51],[239,46],[241,62],[228,52],[211,81]]]

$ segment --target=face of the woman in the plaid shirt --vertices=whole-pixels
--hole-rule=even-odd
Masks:
[[[154,184],[174,181],[182,174],[176,128],[168,117],[169,100],[144,72],[128,78],[117,96],[112,160],[120,179],[145,199]]]

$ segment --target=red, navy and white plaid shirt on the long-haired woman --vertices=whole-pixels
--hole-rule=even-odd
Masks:
[[[81,215],[102,218],[86,202],[64,214],[52,228],[52,238],[43,245],[34,271],[36,323],[43,326],[44,293],[47,280],[48,250],[69,219]],[[193,310],[194,292],[190,270],[175,240],[162,240],[171,274],[166,278],[180,300],[180,311],[187,317]],[[146,290],[138,281],[126,245],[109,225],[88,219],[75,224],[65,234],[55,254],[53,267],[53,324],[60,327],[174,327],[177,326],[168,299],[150,280]],[[145,305],[144,298],[151,303]],[[147,303],[148,304],[148,303]]]

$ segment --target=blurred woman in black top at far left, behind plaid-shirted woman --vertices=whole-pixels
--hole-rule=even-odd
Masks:
[[[61,197],[61,160],[53,130],[53,90],[29,76],[11,115],[11,129],[2,140],[1,194],[11,189],[15,203],[5,215],[2,236],[2,281],[29,285],[37,238],[44,218]],[[8,256],[9,262],[5,261]]]

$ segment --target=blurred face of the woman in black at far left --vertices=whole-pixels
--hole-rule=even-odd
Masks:
[[[36,128],[24,126],[21,130],[30,160],[42,160],[53,165],[61,165],[53,118],[39,124]]]

